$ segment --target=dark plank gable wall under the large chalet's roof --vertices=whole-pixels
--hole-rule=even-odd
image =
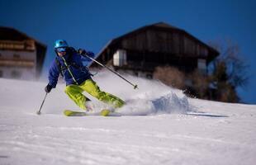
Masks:
[[[205,57],[208,50],[205,45],[180,31],[146,30],[121,40],[124,50],[138,50],[164,54]]]

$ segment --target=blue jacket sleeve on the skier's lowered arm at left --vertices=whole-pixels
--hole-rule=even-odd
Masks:
[[[59,78],[59,69],[54,60],[49,69],[49,75],[48,75],[49,83],[48,84],[51,87],[55,88],[57,85],[57,82],[58,82],[58,78]]]

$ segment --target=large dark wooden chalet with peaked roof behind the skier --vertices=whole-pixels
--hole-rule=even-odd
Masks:
[[[164,22],[143,26],[110,40],[97,60],[119,72],[152,78],[159,66],[173,66],[185,73],[206,66],[219,53],[182,29]],[[91,68],[97,68],[92,63]]]

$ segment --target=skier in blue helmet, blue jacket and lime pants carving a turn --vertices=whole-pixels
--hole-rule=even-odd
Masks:
[[[59,74],[61,74],[66,82],[65,93],[83,110],[91,111],[93,106],[92,101],[85,97],[83,92],[88,92],[92,97],[96,97],[99,101],[103,101],[114,108],[125,104],[125,101],[120,98],[102,92],[97,83],[92,80],[92,74],[88,68],[83,66],[83,61],[90,61],[83,54],[93,58],[92,52],[82,49],[77,52],[69,47],[65,40],[56,40],[54,47],[56,57],[49,69],[49,83],[45,87],[45,92],[49,93],[52,88],[56,87]]]

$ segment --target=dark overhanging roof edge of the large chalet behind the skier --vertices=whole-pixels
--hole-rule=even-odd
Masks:
[[[158,23],[154,23],[154,24],[151,24],[151,25],[148,25],[148,26],[142,26],[140,27],[139,29],[136,29],[135,31],[130,31],[129,33],[126,33],[125,35],[121,35],[119,37],[116,37],[110,41],[107,42],[107,45],[105,45],[103,47],[103,49],[97,54],[97,57],[102,54],[106,49],[107,47],[111,46],[111,45],[114,45],[116,44],[116,42],[118,42],[119,40],[122,40],[124,38],[126,38],[127,36],[130,36],[130,35],[135,35],[135,33],[140,33],[140,31],[144,31],[145,29],[148,29],[148,28],[158,28],[158,29],[165,29],[165,30],[168,30],[168,31],[180,31],[180,32],[183,32],[184,34],[190,36],[192,39],[194,40],[197,40],[197,42],[201,43],[201,45],[204,45],[206,46],[206,48],[208,48],[209,50],[211,50],[212,52],[214,52],[216,54],[216,56],[219,54],[219,52],[213,48],[211,48],[211,46],[209,45],[206,45],[204,42],[202,42],[201,40],[198,40],[196,37],[194,37],[193,35],[187,33],[187,31],[184,31],[183,29],[180,29],[178,27],[175,27],[175,26],[172,26],[172,25],[169,25],[168,23],[165,23],[165,22],[158,22]]]

